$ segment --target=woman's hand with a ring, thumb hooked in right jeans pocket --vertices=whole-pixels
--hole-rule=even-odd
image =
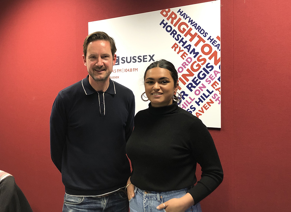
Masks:
[[[191,194],[187,193],[181,198],[173,198],[157,206],[157,209],[165,209],[166,212],[185,212],[191,205],[194,205],[194,200]]]

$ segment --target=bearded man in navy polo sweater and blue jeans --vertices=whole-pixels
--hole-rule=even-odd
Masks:
[[[50,118],[51,157],[65,185],[63,211],[128,212],[125,143],[134,127],[134,95],[109,78],[113,38],[92,33],[83,52],[89,75],[58,93]]]

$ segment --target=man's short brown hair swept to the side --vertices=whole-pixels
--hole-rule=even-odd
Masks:
[[[110,43],[110,49],[111,49],[111,53],[112,53],[112,57],[114,56],[114,54],[116,53],[116,46],[115,46],[115,41],[112,37],[110,37],[109,35],[107,35],[104,32],[95,32],[95,33],[91,33],[90,35],[88,35],[84,41],[83,44],[83,53],[84,56],[86,58],[87,55],[87,48],[88,48],[88,44],[95,41],[95,40],[106,40]]]

